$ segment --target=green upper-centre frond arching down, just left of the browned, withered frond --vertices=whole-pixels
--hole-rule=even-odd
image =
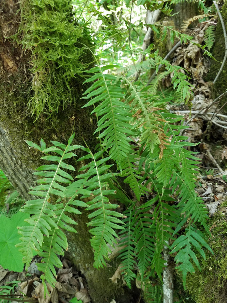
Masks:
[[[114,75],[104,74],[104,71],[112,68],[113,65],[91,68],[88,73],[95,73],[84,83],[94,82],[86,90],[85,99],[91,98],[86,106],[93,105],[97,102],[100,104],[93,110],[98,121],[96,132],[100,132],[99,138],[103,139],[102,146],[109,152],[111,159],[117,162],[120,170],[127,153],[132,152],[128,138],[133,135],[130,126],[130,108],[123,102],[126,89],[121,87],[121,81]]]

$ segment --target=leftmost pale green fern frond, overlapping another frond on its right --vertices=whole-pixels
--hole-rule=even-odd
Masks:
[[[44,179],[39,179],[38,183],[40,185],[32,188],[30,193],[41,198],[27,201],[21,208],[22,212],[30,215],[30,217],[26,219],[29,226],[19,227],[18,231],[21,235],[21,242],[18,244],[18,247],[20,247],[20,251],[24,255],[23,261],[26,263],[26,268],[28,268],[33,257],[33,251],[41,251],[43,249],[44,235],[51,238],[53,230],[59,228],[56,222],[57,215],[55,214],[55,210],[58,207],[50,203],[50,197],[51,194],[54,194],[61,198],[65,198],[65,187],[62,184],[68,184],[73,180],[71,175],[63,170],[75,170],[73,166],[64,162],[64,159],[76,156],[70,151],[81,147],[80,145],[70,146],[73,138],[74,134],[69,138],[67,145],[51,141],[53,146],[50,148],[46,148],[43,140],[41,140],[41,147],[38,148],[38,145],[34,146],[32,142],[27,142],[30,146],[33,145],[46,154],[41,159],[54,161],[57,162],[57,164],[42,165],[37,169],[38,172],[35,172],[35,175],[42,176]],[[55,152],[60,156],[49,155],[49,152]],[[63,242],[61,242],[61,244],[63,246],[60,246],[64,248],[65,245]],[[61,249],[57,247],[57,243],[53,242],[53,246],[57,251],[61,251]]]

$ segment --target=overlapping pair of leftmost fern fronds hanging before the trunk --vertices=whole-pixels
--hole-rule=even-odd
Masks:
[[[70,213],[79,214],[74,206],[85,206],[86,204],[74,200],[73,197],[69,201],[59,203],[61,200],[57,200],[56,204],[50,203],[51,195],[60,196],[62,199],[66,199],[65,187],[62,184],[69,184],[73,178],[64,169],[74,171],[74,167],[64,162],[65,159],[76,156],[73,150],[80,148],[80,145],[71,145],[74,138],[74,134],[69,138],[68,144],[51,141],[53,146],[46,148],[46,144],[41,140],[41,146],[35,143],[27,141],[28,145],[34,147],[46,154],[41,159],[47,161],[54,161],[57,164],[48,164],[40,166],[35,172],[35,175],[41,176],[35,188],[32,188],[30,192],[32,195],[39,196],[40,198],[27,201],[22,206],[21,211],[30,215],[25,221],[29,223],[29,226],[19,227],[19,234],[21,235],[21,242],[18,244],[20,251],[24,255],[23,261],[26,263],[26,269],[30,265],[33,257],[33,251],[37,251],[43,258],[43,263],[39,264],[39,269],[44,272],[41,276],[43,282],[47,281],[54,286],[56,279],[56,271],[54,266],[60,268],[62,266],[61,261],[57,255],[64,255],[64,249],[67,249],[67,239],[60,228],[75,231],[74,228],[68,224],[77,224],[74,220],[64,214],[64,211]],[[54,152],[59,156],[50,155],[50,152]],[[61,184],[60,184],[61,183]],[[75,187],[75,193],[81,193],[83,182],[78,182]],[[82,191],[84,193],[84,191]],[[45,286],[45,291],[47,288]]]

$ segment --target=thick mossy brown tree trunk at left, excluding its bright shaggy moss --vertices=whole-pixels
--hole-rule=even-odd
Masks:
[[[25,1],[24,5],[27,4]],[[82,144],[83,136],[90,148],[93,148],[96,144],[93,139],[96,121],[90,116],[90,109],[81,109],[81,92],[86,90],[82,88],[83,78],[72,78],[63,92],[66,93],[68,85],[71,85],[71,103],[64,105],[64,108],[60,104],[51,118],[45,112],[41,113],[34,122],[35,118],[31,116],[28,106],[29,100],[34,97],[34,90],[31,90],[34,84],[32,52],[23,50],[22,45],[12,38],[21,24],[20,13],[16,14],[19,9],[18,1],[0,0],[0,168],[21,197],[31,200],[28,191],[35,181],[32,172],[44,163],[40,160],[41,155],[33,148],[30,149],[25,140],[38,144],[43,138],[47,144],[50,140],[65,143],[74,129],[75,144]],[[85,55],[84,61],[87,59]],[[75,162],[71,164],[76,166]],[[87,278],[94,302],[102,303],[113,298],[117,302],[129,302],[133,293],[109,279],[117,265],[112,264],[102,270],[93,268],[94,255],[90,247],[87,221],[87,215],[81,215],[77,225],[78,233],[68,237],[67,254]]]

